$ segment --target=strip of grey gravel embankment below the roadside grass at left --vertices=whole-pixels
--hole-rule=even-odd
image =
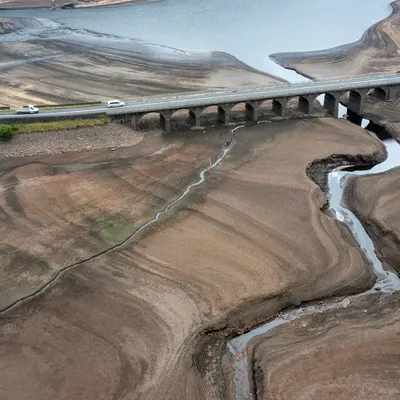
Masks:
[[[141,132],[112,123],[64,131],[20,133],[9,142],[0,142],[0,159],[117,149],[134,146],[142,140]]]

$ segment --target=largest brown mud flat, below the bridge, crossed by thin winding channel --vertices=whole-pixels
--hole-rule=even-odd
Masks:
[[[229,337],[285,306],[373,284],[347,229],[321,211],[325,195],[306,170],[325,160],[312,174],[323,187],[338,164],[383,159],[380,142],[327,118],[235,136],[224,162],[166,218],[2,313],[6,398],[224,398]],[[0,180],[2,307],[150,219],[221,142],[155,136],[9,166]]]

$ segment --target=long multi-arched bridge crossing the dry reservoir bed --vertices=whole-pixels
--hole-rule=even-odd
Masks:
[[[112,120],[120,121],[136,129],[141,119],[149,113],[159,114],[161,126],[171,130],[173,115],[181,110],[189,114],[192,126],[200,127],[205,110],[217,107],[217,118],[223,124],[231,122],[232,108],[244,104],[244,116],[258,121],[260,109],[266,101],[272,100],[272,113],[278,117],[288,116],[288,102],[296,98],[300,115],[313,111],[316,98],[324,95],[323,106],[333,117],[338,117],[339,103],[348,93],[347,108],[351,119],[361,123],[361,114],[368,95],[380,101],[395,100],[400,94],[400,74],[368,76],[361,78],[284,84],[263,89],[249,89],[234,92],[188,93],[172,97],[149,97],[133,102],[128,107],[108,112]]]

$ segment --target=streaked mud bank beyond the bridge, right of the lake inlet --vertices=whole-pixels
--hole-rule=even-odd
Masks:
[[[322,51],[276,53],[271,57],[313,79],[396,73],[400,70],[400,2],[391,5],[391,16],[373,25],[358,42]]]

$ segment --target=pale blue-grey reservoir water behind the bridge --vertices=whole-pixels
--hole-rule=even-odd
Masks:
[[[298,75],[277,66],[270,54],[355,41],[390,12],[388,0],[162,0],[108,8],[9,10],[0,16],[46,18],[179,49],[224,51],[293,81]]]

